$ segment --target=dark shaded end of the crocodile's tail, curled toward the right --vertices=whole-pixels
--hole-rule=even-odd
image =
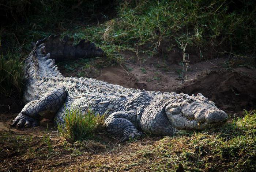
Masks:
[[[51,58],[56,62],[105,56],[101,48],[95,46],[94,43],[85,42],[83,39],[74,45],[74,38],[69,38],[67,35],[64,36],[63,40],[60,40],[60,35],[50,35],[48,38],[38,40],[36,46],[42,43],[45,44],[46,53],[50,53]]]

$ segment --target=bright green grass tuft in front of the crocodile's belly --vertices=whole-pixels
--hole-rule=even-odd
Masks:
[[[104,116],[94,116],[90,111],[82,114],[81,110],[74,107],[66,109],[65,115],[65,125],[58,124],[57,127],[61,135],[71,143],[93,137],[104,124]]]

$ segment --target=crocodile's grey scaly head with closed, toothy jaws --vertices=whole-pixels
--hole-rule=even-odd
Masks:
[[[214,128],[227,121],[227,114],[202,94],[181,93],[178,101],[165,106],[165,113],[171,125],[180,130]]]

